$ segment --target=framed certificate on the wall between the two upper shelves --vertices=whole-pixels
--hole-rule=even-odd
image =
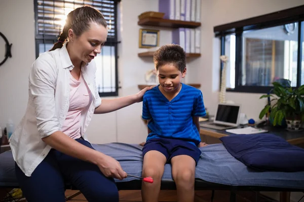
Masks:
[[[139,29],[139,47],[156,47],[160,41],[160,30]]]

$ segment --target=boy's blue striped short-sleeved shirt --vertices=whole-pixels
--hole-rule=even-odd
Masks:
[[[180,92],[169,102],[159,85],[143,95],[142,118],[150,120],[151,138],[176,138],[198,145],[201,141],[192,117],[206,115],[201,90],[183,84]]]

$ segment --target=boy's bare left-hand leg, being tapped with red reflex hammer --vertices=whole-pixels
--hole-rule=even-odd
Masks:
[[[142,177],[152,177],[153,183],[142,181],[141,197],[143,202],[158,201],[166,162],[165,155],[156,150],[150,150],[144,155]]]

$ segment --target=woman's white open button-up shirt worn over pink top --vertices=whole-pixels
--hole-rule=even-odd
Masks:
[[[62,48],[43,53],[32,65],[27,109],[10,138],[14,160],[26,176],[31,176],[51,149],[42,138],[62,128],[69,108],[69,80],[73,67],[66,43]],[[94,96],[81,117],[81,134],[87,140],[85,133],[95,108],[101,105],[101,98],[95,83],[95,62],[83,65],[81,70]]]

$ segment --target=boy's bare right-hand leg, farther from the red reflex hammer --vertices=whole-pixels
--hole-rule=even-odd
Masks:
[[[173,157],[171,164],[178,202],[194,201],[195,160],[187,155],[180,155]]]

